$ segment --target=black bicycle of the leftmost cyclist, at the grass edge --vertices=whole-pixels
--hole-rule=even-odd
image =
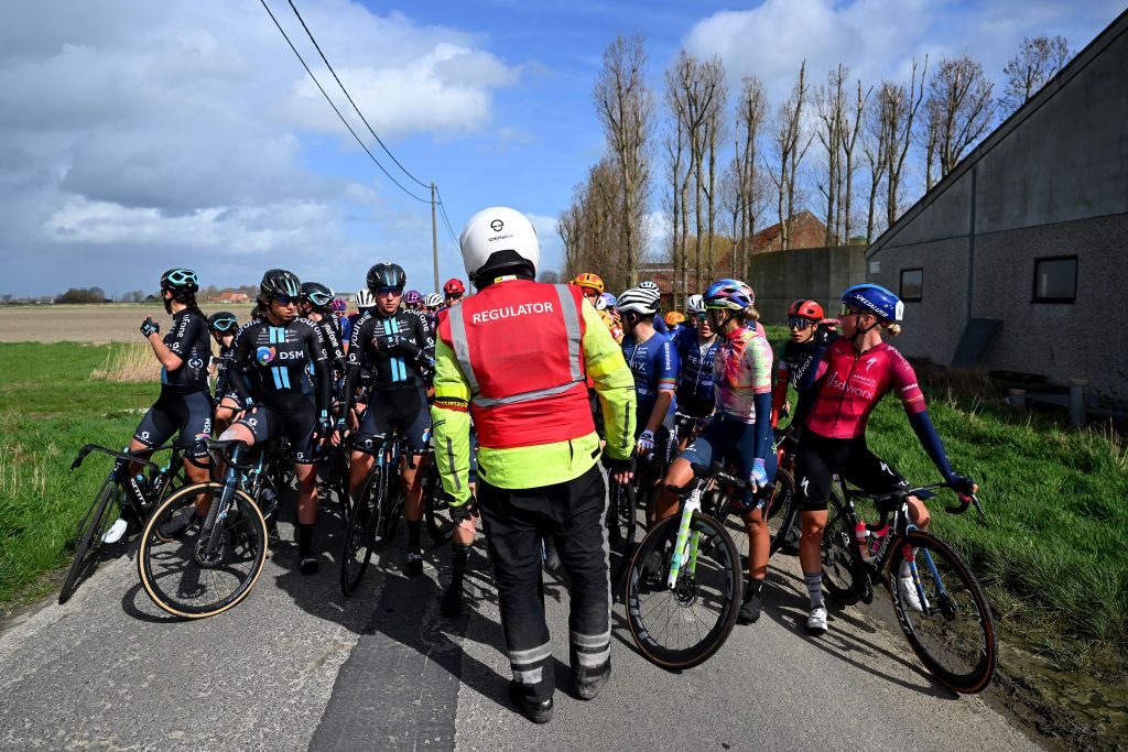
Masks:
[[[144,469],[148,471],[148,476],[139,475],[134,478],[136,487],[141,490],[141,494],[146,499],[143,508],[133,510],[139,520],[146,519],[149,510],[151,510],[157,502],[165,496],[174,484],[183,486],[187,481],[187,476],[184,472],[183,465],[185,454],[185,450],[183,448],[166,444],[165,446],[158,446],[157,449],[149,450],[151,452],[150,457],[157,452],[166,450],[171,450],[171,455],[162,466],[158,466],[150,459],[142,459],[130,454],[125,450],[117,452],[108,446],[100,446],[98,444],[87,444],[79,450],[74,461],[71,462],[71,471],[82,467],[82,462],[90,454],[90,452],[109,454],[116,459],[117,462],[114,463],[114,469],[109,471],[109,475],[106,476],[106,479],[102,483],[98,492],[94,495],[94,502],[87,508],[86,514],[78,524],[74,536],[74,558],[71,560],[70,569],[67,570],[67,576],[63,578],[62,590],[59,591],[60,605],[70,600],[70,596],[77,589],[79,577],[90,568],[90,565],[94,564],[95,554],[103,546],[103,536],[107,530],[109,530],[109,527],[114,523],[114,521],[122,516],[122,513],[125,510],[125,504],[127,503],[131,507],[133,506],[132,499],[129,502],[123,501],[129,498],[129,495],[126,489],[123,487],[124,481],[120,479],[118,476],[127,472],[127,466],[118,468],[121,463],[135,462],[144,466]],[[173,468],[176,469],[174,470]]]

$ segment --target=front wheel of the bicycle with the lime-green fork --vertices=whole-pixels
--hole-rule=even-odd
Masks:
[[[697,555],[685,563],[675,587],[667,587],[680,515],[658,523],[638,545],[627,573],[627,623],[647,661],[664,669],[689,669],[708,660],[737,623],[740,557],[732,538],[713,517],[695,513]],[[695,563],[695,564],[694,564]]]

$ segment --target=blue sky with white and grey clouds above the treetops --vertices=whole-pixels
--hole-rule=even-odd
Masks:
[[[352,115],[290,7],[268,5]],[[455,232],[478,209],[512,205],[538,228],[546,267],[559,263],[555,216],[603,150],[590,95],[617,33],[645,35],[659,96],[662,70],[685,47],[720,54],[731,88],[756,73],[775,106],[803,59],[817,82],[843,60],[876,83],[906,77],[914,56],[969,53],[998,81],[1023,35],[1063,34],[1081,48],[1123,8],[1107,0],[296,5],[397,158],[440,186]],[[7,20],[0,294],[151,290],[174,265],[196,268],[204,284],[256,282],[282,266],[354,290],[384,259],[430,290],[430,207],[360,151],[255,0],[18,3]],[[425,193],[365,140],[397,179]],[[656,219],[654,227],[660,235]],[[442,277],[461,276],[442,230],[440,251]]]

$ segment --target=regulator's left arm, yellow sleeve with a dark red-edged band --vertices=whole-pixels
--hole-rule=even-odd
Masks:
[[[470,384],[451,350],[435,343],[434,405],[431,407],[434,458],[442,488],[459,503],[470,498]]]

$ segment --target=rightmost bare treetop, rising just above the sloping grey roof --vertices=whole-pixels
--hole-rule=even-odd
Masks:
[[[935,124],[941,177],[955,167],[995,117],[994,85],[971,57],[942,60],[928,81],[928,123]]]

